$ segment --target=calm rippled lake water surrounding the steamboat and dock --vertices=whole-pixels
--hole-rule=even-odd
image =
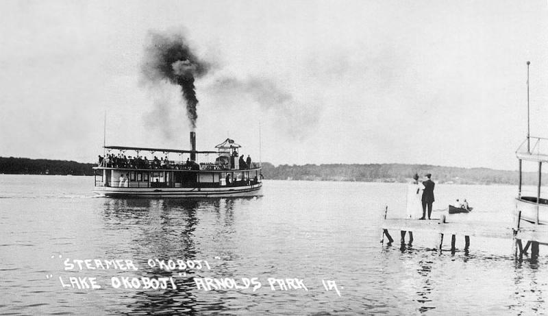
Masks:
[[[188,201],[93,197],[92,183],[0,175],[0,314],[541,315],[548,307],[546,247],[536,260],[514,260],[510,240],[472,237],[466,253],[458,239],[454,254],[432,250],[434,234],[417,232],[412,247],[379,243],[384,206],[388,217],[405,215],[406,184],[264,181],[262,197]],[[456,197],[475,208],[451,221],[511,225],[514,186],[442,184],[435,193],[434,209]],[[66,258],[133,260],[138,270],[65,271]],[[165,271],[149,259],[207,260],[210,269]],[[69,277],[95,277],[101,289],[64,288]],[[176,289],[116,289],[112,277],[171,277]],[[194,278],[258,278],[262,287],[203,291]],[[303,279],[308,291],[272,291],[268,278]],[[340,297],[322,280],[334,280]]]

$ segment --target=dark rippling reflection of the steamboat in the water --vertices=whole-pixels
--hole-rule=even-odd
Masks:
[[[252,198],[251,198],[252,199]],[[236,199],[238,203],[245,198]],[[199,212],[208,212],[214,218],[212,224],[222,234],[234,232],[232,224],[234,199],[110,199],[104,204],[103,219],[107,226],[118,231],[128,230],[131,240],[125,241],[124,256],[134,260],[138,271],[127,276],[136,278],[173,278],[176,289],[120,289],[126,291],[125,306],[132,311],[129,315],[150,315],[155,311],[169,310],[172,313],[195,315],[208,311],[226,311],[221,295],[208,295],[207,304],[201,304],[197,296],[194,278],[213,274],[231,277],[233,272],[226,260],[235,254],[229,249],[215,251],[223,260],[214,266],[214,258],[203,258],[203,249],[210,247],[211,241],[200,243],[195,230],[199,226]],[[211,214],[213,213],[213,214]],[[208,225],[207,223],[204,225]],[[108,228],[108,227],[107,227]],[[215,236],[212,236],[215,238]],[[158,265],[150,267],[148,260],[208,260],[211,270],[203,265],[201,269],[173,269],[166,271]],[[170,284],[168,282],[168,284]],[[203,300],[203,297],[202,297]],[[203,302],[202,302],[203,303]],[[201,310],[201,308],[206,308]]]

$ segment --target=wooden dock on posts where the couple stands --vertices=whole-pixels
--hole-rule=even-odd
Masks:
[[[548,245],[547,225],[523,225],[521,212],[514,219],[514,223],[504,226],[501,223],[492,222],[447,222],[445,215],[440,219],[419,220],[419,219],[386,219],[382,221],[382,242],[384,237],[388,243],[393,243],[390,231],[399,231],[401,243],[405,243],[406,234],[409,235],[409,243],[413,241],[413,233],[433,232],[439,236],[438,249],[442,250],[443,236],[451,235],[451,250],[455,249],[456,236],[464,236],[464,250],[469,250],[470,237],[478,236],[494,239],[512,239],[514,241],[514,256],[527,254],[531,248],[532,256],[538,256],[538,245]],[[522,241],[527,241],[523,246]]]

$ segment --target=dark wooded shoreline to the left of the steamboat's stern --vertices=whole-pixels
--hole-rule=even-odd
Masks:
[[[93,166],[67,160],[0,157],[0,173],[8,174],[93,175]]]

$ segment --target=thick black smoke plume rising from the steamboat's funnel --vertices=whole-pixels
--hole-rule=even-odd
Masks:
[[[168,80],[181,87],[192,129],[195,129],[198,118],[195,78],[205,75],[208,69],[208,63],[192,52],[188,41],[181,34],[149,33],[149,45],[145,48],[145,60],[142,64],[145,80],[151,83]]]

